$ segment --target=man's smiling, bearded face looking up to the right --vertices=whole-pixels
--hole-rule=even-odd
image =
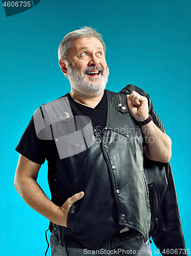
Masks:
[[[102,43],[95,37],[85,37],[74,40],[73,45],[66,73],[71,89],[79,96],[101,95],[109,75]]]

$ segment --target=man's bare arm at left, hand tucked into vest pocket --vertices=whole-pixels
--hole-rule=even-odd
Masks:
[[[55,224],[65,226],[69,208],[73,203],[84,196],[84,192],[70,197],[61,206],[54,204],[46,197],[42,188],[37,183],[38,172],[41,164],[37,164],[20,155],[15,173],[15,188],[25,202],[39,214]]]

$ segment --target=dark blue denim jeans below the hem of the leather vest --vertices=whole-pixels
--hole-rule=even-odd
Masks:
[[[56,236],[51,233],[51,252],[52,256],[85,256],[85,255],[104,255],[104,256],[151,256],[150,240],[146,243],[144,238],[133,230],[123,233],[116,233],[100,250],[87,250],[79,248],[69,248],[61,245]]]

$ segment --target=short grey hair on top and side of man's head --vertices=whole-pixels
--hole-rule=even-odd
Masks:
[[[98,38],[102,45],[103,45],[103,49],[104,49],[104,53],[105,53],[105,44],[104,41],[102,39],[102,35],[99,34],[95,29],[92,29],[90,27],[83,27],[81,29],[72,31],[70,33],[68,33],[67,35],[64,36],[63,40],[60,43],[60,46],[58,48],[58,58],[59,60],[62,59],[63,61],[65,61],[66,63],[68,63],[68,51],[71,47],[73,47],[72,41],[74,39],[78,39],[78,38],[84,38],[84,37],[96,37]]]

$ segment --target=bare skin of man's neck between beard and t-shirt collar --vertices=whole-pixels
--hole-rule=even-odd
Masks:
[[[69,94],[70,94],[71,98],[74,99],[74,101],[76,101],[82,105],[89,106],[89,108],[94,109],[101,101],[101,99],[104,95],[104,92],[101,95],[96,96],[96,97],[93,97],[93,96],[87,97],[85,95],[76,95],[76,94],[74,94],[73,90],[71,90]]]

